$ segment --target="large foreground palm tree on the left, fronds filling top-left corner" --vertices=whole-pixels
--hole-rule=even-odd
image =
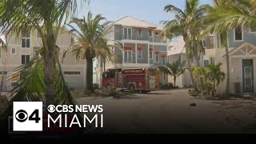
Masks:
[[[79,2],[83,4],[86,0]],[[24,32],[27,34],[30,33],[30,30],[38,30],[38,33],[42,36],[40,54],[42,58],[40,58],[40,64],[38,65],[42,65],[41,70],[43,70],[43,79],[41,80],[46,87],[46,106],[55,104],[55,100],[59,95],[56,83],[58,78],[62,78],[57,75],[61,74],[62,71],[58,66],[59,49],[56,46],[58,34],[62,30],[62,24],[66,23],[71,16],[77,14],[77,6],[78,2],[76,0],[2,0],[0,2],[0,18],[3,32],[6,32],[6,34],[22,34]],[[35,58],[39,57],[36,56]],[[22,66],[22,69],[35,66],[35,62],[29,63],[31,66]],[[27,79],[23,80],[27,81]]]

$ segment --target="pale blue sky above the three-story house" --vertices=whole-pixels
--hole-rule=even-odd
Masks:
[[[211,4],[212,0],[201,0],[201,4],[206,3]],[[167,4],[183,9],[185,0],[90,0],[89,6],[79,10],[78,17],[82,18],[91,10],[93,14],[102,14],[109,21],[129,15],[159,25],[162,20],[174,18],[174,14],[164,12],[163,8]]]

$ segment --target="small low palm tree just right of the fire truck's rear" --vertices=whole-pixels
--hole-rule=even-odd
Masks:
[[[174,77],[174,87],[176,86],[176,79],[185,72],[185,63],[181,61],[176,61],[173,63],[167,63],[166,66],[159,66],[166,74],[170,74]]]

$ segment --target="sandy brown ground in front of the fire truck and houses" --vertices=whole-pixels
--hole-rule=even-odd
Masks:
[[[161,90],[122,98],[77,98],[77,102],[102,104],[108,133],[256,133],[254,99],[195,99],[187,91]],[[192,107],[190,103],[197,106]],[[250,127],[254,130],[248,129]]]

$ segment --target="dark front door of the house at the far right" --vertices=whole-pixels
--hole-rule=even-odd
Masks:
[[[242,60],[242,86],[244,93],[254,92],[254,61],[253,59]]]

